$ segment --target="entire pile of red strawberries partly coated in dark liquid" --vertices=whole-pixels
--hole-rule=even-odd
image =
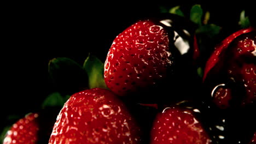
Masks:
[[[255,28],[216,44],[206,63],[195,33],[178,15],[138,20],[114,39],[100,73],[87,59],[89,77],[69,83],[76,93],[56,121],[30,113],[3,143],[42,143],[42,133],[49,144],[256,143]]]

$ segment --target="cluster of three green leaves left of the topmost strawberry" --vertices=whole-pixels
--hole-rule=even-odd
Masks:
[[[104,65],[101,60],[90,53],[83,65],[79,65],[73,59],[67,57],[51,59],[48,64],[48,72],[51,80],[53,80],[56,92],[46,97],[42,108],[63,106],[71,94],[85,89],[96,87],[107,89],[103,70]]]

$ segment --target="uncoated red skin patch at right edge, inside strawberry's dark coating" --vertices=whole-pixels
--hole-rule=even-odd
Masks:
[[[230,68],[230,75],[232,77],[241,75],[240,81],[244,83],[247,97],[242,101],[243,105],[256,100],[256,29],[248,34],[246,38],[238,40],[236,44],[239,47],[238,53],[233,49],[232,53],[235,53],[234,59],[238,59],[238,64]],[[240,55],[244,55],[246,58],[240,58]],[[241,61],[242,67],[239,67],[239,61]],[[240,70],[238,73],[237,69]]]

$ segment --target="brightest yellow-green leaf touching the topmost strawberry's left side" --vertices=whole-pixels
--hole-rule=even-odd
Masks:
[[[84,61],[83,68],[88,74],[89,88],[107,88],[103,76],[104,64],[100,59],[89,53]]]

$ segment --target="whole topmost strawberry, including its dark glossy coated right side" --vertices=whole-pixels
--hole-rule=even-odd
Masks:
[[[107,87],[121,96],[148,94],[147,98],[156,87],[168,89],[166,82],[184,87],[191,79],[188,77],[193,77],[186,72],[191,71],[195,53],[192,26],[184,17],[165,15],[139,20],[126,28],[108,51],[104,64]],[[186,82],[179,85],[181,81]]]

